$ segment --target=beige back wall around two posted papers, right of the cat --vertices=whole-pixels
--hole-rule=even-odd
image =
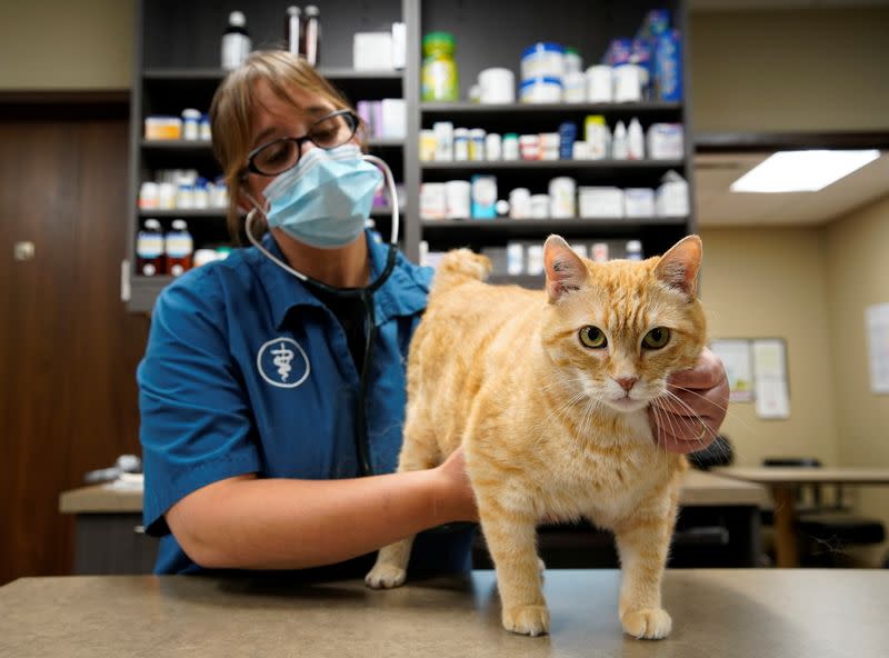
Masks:
[[[811,228],[702,229],[701,293],[711,338],[783,337],[790,419],[760,420],[732,403],[722,431],[737,463],[807,455],[837,463],[827,277],[820,231]]]

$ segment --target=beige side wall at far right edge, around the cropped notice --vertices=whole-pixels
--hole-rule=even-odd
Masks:
[[[865,310],[889,303],[889,197],[823,228],[839,463],[889,466],[889,395],[870,391]],[[861,511],[889,528],[889,490],[860,490]]]

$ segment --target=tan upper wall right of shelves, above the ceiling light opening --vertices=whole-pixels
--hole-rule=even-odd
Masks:
[[[696,132],[889,128],[887,34],[889,8],[692,14]]]

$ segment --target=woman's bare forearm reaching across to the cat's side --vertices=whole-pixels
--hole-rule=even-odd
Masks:
[[[458,450],[423,471],[348,480],[228,478],[189,493],[166,518],[202,567],[303,569],[478,517]]]

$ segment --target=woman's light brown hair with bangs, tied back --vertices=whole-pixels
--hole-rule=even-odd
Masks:
[[[213,154],[222,167],[229,189],[227,222],[232,240],[240,241],[241,212],[238,199],[244,180],[247,157],[252,147],[253,119],[261,103],[256,98],[259,82],[281,100],[301,111],[291,90],[301,89],[330,102],[337,110],[352,107],[333,86],[304,59],[286,50],[260,50],[251,53],[239,68],[222,80],[210,104]]]

